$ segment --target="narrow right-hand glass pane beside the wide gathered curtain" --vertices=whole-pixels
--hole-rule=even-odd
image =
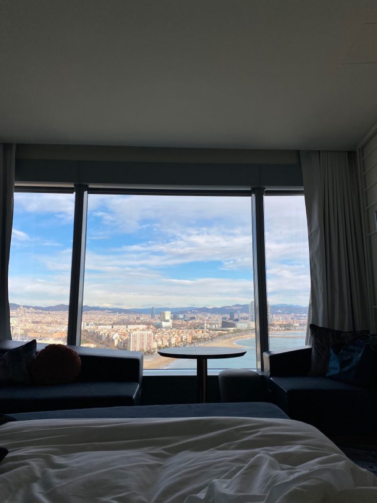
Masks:
[[[266,196],[264,215],[269,348],[302,347],[310,292],[304,196]]]

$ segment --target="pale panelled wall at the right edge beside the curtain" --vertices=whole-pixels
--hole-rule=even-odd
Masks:
[[[373,311],[373,332],[377,332],[377,124],[358,146],[364,242],[368,266],[368,293]]]

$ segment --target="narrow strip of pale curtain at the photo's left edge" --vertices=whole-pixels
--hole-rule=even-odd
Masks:
[[[11,339],[8,265],[13,222],[15,145],[0,144],[0,339]]]

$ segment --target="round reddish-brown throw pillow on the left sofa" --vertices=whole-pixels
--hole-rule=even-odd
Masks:
[[[39,351],[32,368],[35,384],[72,383],[81,370],[81,359],[76,351],[64,344],[49,344]]]

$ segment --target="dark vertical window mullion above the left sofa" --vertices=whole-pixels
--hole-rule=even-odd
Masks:
[[[71,289],[68,314],[67,343],[80,345],[82,297],[84,287],[85,249],[87,238],[88,187],[75,185],[75,216],[73,224]]]

